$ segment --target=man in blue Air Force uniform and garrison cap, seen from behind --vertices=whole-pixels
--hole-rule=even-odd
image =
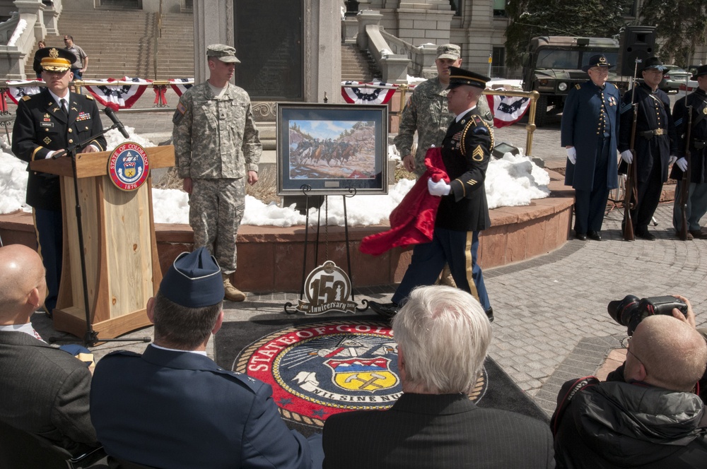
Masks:
[[[286,427],[269,385],[206,356],[223,321],[221,268],[205,247],[180,254],[147,314],[155,342],[96,366],[90,415],[112,458],[155,468],[318,468],[320,434]]]

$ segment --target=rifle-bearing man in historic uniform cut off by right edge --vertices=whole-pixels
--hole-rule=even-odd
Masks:
[[[672,210],[672,225],[679,232],[682,222],[680,207],[680,191],[684,184],[682,177],[687,169],[685,159],[685,135],[689,123],[688,109],[692,106],[692,129],[690,132],[690,165],[691,179],[687,198],[687,239],[707,238],[700,228],[700,219],[707,213],[707,65],[701,65],[693,76],[698,88],[686,97],[682,97],[672,108],[677,133],[677,148],[679,159],[672,165],[671,179],[677,179],[675,186],[675,203]]]

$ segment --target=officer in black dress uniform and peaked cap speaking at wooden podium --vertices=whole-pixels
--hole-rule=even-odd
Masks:
[[[98,106],[91,95],[69,91],[74,74],[69,71],[76,56],[65,49],[45,47],[37,51],[42,80],[47,88],[24,96],[17,107],[12,131],[12,151],[26,162],[52,158],[54,153],[103,132]],[[77,153],[105,150],[105,137],[97,136]],[[66,157],[64,157],[66,158]],[[62,194],[59,176],[32,171],[28,167],[27,198],[33,207],[37,251],[47,269],[45,309],[51,316],[57,305],[62,275]]]

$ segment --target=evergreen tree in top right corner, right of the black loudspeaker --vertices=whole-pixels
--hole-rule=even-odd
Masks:
[[[689,66],[696,47],[706,42],[707,0],[644,0],[641,18],[655,25],[663,63]]]

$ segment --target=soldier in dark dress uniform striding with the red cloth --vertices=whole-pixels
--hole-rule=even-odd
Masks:
[[[484,276],[477,264],[479,232],[491,226],[484,179],[493,149],[493,131],[477,107],[489,80],[479,73],[450,67],[447,102],[456,117],[442,142],[442,160],[450,184],[428,181],[430,194],[442,198],[433,239],[415,246],[391,303],[368,302],[382,316],[397,314],[414,287],[432,285],[446,262],[457,287],[474,295],[493,321]]]

